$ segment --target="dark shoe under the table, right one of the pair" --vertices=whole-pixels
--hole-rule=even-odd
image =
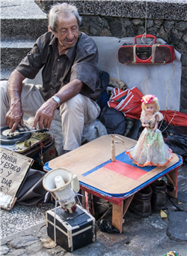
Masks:
[[[151,198],[151,209],[159,210],[165,208],[165,190],[166,183],[164,180],[156,180],[151,184],[153,195]]]

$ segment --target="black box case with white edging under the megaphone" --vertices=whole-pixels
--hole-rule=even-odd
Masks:
[[[68,213],[61,206],[46,212],[46,227],[48,236],[61,245],[66,251],[74,251],[77,248],[88,245],[96,240],[96,220],[82,206],[76,205],[76,212]]]

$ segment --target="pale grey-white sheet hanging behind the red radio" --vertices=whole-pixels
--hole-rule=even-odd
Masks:
[[[92,37],[99,50],[98,68],[108,72],[110,77],[117,78],[119,71],[120,80],[126,83],[128,89],[137,87],[143,95],[156,95],[159,99],[160,110],[180,111],[180,81],[182,64],[181,54],[175,50],[174,64],[130,64],[125,65],[117,60],[116,53],[123,45],[133,46],[135,38]],[[137,44],[141,44],[141,38],[137,38]],[[145,39],[144,39],[145,41]],[[165,41],[156,38],[157,44],[165,45]],[[172,77],[172,75],[174,76]],[[172,77],[172,78],[171,78]],[[171,80],[170,80],[171,79]],[[170,95],[168,95],[167,84]],[[168,98],[167,98],[168,97]],[[168,101],[167,101],[168,99]],[[173,107],[174,106],[174,107]]]

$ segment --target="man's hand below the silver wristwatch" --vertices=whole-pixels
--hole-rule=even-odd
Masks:
[[[34,117],[33,128],[35,129],[38,123],[39,129],[43,129],[43,127],[49,129],[57,106],[58,104],[53,101],[52,98],[49,98],[49,100],[37,110]]]

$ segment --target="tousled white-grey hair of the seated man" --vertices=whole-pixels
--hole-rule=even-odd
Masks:
[[[67,3],[53,5],[49,11],[49,29],[57,32],[58,15],[63,14],[67,17],[68,14],[74,14],[78,25],[80,26],[82,17],[79,16],[79,12],[75,5],[69,5]]]

